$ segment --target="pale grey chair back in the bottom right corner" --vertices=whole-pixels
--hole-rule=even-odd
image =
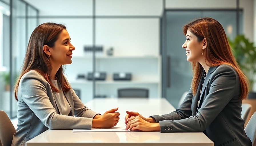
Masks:
[[[256,145],[256,112],[253,113],[251,119],[245,127],[245,133],[251,139],[253,145]]]

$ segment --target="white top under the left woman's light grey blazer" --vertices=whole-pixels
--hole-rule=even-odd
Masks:
[[[61,107],[58,107],[59,112],[61,112],[62,115],[69,115],[69,113],[71,111],[71,107],[70,107],[69,103],[67,102],[67,99],[62,91],[60,83],[58,82],[57,79],[51,80],[51,81],[55,87],[57,87],[59,90],[61,90],[59,93],[53,91],[53,94],[55,94],[55,97],[57,97],[56,102],[59,102],[59,104],[61,105]]]

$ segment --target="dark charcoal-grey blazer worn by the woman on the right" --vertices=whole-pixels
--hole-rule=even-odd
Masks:
[[[203,87],[202,79],[195,96],[190,89],[176,111],[151,116],[159,122],[161,132],[203,132],[215,146],[252,145],[243,129],[241,89],[235,69],[226,64],[213,66],[206,74]]]

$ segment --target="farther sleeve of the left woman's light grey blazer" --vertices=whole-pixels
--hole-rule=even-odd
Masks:
[[[76,117],[93,118],[95,115],[100,114],[100,113],[96,113],[95,111],[87,108],[83,104],[83,102],[81,102],[81,100],[78,98],[78,96],[75,94],[75,91],[73,89],[71,89],[71,93],[72,93],[73,101],[74,101],[74,115]]]

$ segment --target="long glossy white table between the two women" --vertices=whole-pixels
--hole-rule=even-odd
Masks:
[[[120,120],[124,125],[125,111],[136,111],[148,117],[167,114],[175,110],[165,99],[146,98],[99,98],[86,104],[87,107],[103,114],[105,111],[119,107]],[[117,126],[118,126],[117,125]],[[213,142],[203,133],[160,133],[160,132],[80,132],[72,130],[47,130],[26,143],[27,146],[213,146]]]

